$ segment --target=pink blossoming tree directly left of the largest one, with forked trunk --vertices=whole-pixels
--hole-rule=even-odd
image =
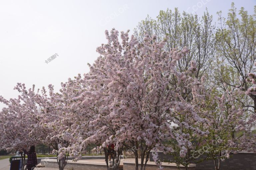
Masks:
[[[61,83],[61,86],[60,93],[54,93],[53,86],[49,85],[49,95],[43,88],[41,95],[35,98],[41,109],[40,123],[30,132],[30,135],[36,136],[41,142],[54,149],[53,152],[57,154],[59,169],[63,170],[69,154],[71,156],[77,155],[74,150],[69,149],[72,143],[77,141],[75,136],[80,135],[76,129],[81,128],[80,124],[85,121],[85,116],[79,116],[78,110],[72,109],[72,98],[78,96],[84,89],[80,74],[74,80],[69,78],[68,82]],[[42,131],[40,135],[37,133],[38,128]]]

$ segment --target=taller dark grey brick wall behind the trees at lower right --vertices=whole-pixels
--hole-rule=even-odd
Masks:
[[[165,155],[162,152],[158,153],[160,160],[170,160],[171,155]],[[150,153],[150,161],[153,161],[152,154]],[[217,161],[218,162],[218,161]],[[213,160],[204,160],[196,164],[196,170],[213,170]],[[253,153],[237,153],[230,154],[230,158],[221,161],[221,170],[256,170],[256,154]]]

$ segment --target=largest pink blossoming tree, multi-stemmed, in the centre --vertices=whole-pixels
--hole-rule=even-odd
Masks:
[[[176,119],[187,115],[196,122],[205,121],[198,116],[193,102],[186,100],[188,96],[180,95],[186,90],[198,95],[201,89],[200,82],[190,76],[196,71],[195,62],[186,72],[176,69],[177,61],[188,50],[164,51],[165,42],[156,42],[156,37],[146,36],[140,43],[134,36],[129,40],[128,32],[121,32],[119,42],[115,29],[111,34],[105,33],[108,43],[97,48],[100,57],[85,74],[88,90],[77,98],[81,100],[80,108],[96,117],[89,123],[89,128],[94,129],[88,131],[81,148],[93,141],[105,151],[111,143],[116,151],[123,146],[133,148],[136,170],[138,153],[142,170],[151,149],[171,152],[173,149],[165,144],[166,140],[176,140],[183,156],[190,143],[186,134],[172,124],[205,133],[190,126],[190,119]]]

